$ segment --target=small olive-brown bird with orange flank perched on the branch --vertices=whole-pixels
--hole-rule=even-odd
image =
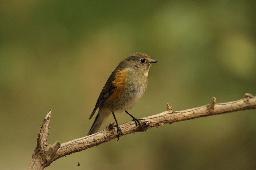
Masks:
[[[98,132],[100,125],[109,115],[111,115],[111,113],[116,121],[114,113],[124,111],[132,117],[132,120],[135,121],[136,125],[137,122],[140,124],[140,121],[126,110],[132,108],[144,94],[148,84],[148,70],[152,63],[157,62],[158,61],[152,60],[152,58],[145,53],[133,53],[118,64],[100,92],[100,96],[89,120],[98,108],[99,113],[95,117],[87,136]],[[141,124],[140,127],[142,128]],[[116,129],[119,140],[120,133],[123,133],[117,121]]]

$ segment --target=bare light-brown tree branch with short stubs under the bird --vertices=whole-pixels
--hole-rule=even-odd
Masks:
[[[140,128],[140,125],[136,126],[134,121],[121,124],[120,128],[122,129],[123,134],[120,135],[120,137],[134,132],[143,132],[152,127],[162,126],[165,123],[172,124],[173,122],[180,122],[203,116],[219,115],[255,108],[256,95],[249,93],[245,93],[244,98],[241,100],[219,104],[216,104],[216,98],[214,97],[212,98],[211,104],[176,112],[172,110],[172,107],[169,106],[169,104],[167,104],[166,111],[140,119],[142,129]],[[44,169],[44,167],[49,166],[53,161],[61,157],[103,144],[117,137],[116,127],[114,127],[114,123],[110,123],[109,127],[106,127],[105,130],[90,136],[74,139],[62,144],[57,141],[51,145],[47,142],[51,115],[52,110],[46,115],[44,122],[41,125],[41,130],[37,137],[37,146],[32,156],[32,161],[28,168],[29,170]]]

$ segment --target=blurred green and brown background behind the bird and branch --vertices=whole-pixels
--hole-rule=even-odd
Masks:
[[[108,76],[134,52],[160,61],[130,110],[136,118],[163,112],[167,102],[177,111],[256,93],[255,6],[251,0],[1,1],[0,169],[28,168],[50,109],[51,144],[84,137]],[[255,112],[166,124],[45,169],[255,169]],[[131,121],[125,113],[116,117]]]

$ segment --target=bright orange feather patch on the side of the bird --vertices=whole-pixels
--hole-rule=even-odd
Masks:
[[[115,92],[113,92],[108,99],[115,99],[117,96],[120,95],[121,91],[124,89],[125,84],[127,84],[126,73],[127,70],[117,70],[116,78],[114,81],[112,81],[113,86],[115,86],[116,89]]]

